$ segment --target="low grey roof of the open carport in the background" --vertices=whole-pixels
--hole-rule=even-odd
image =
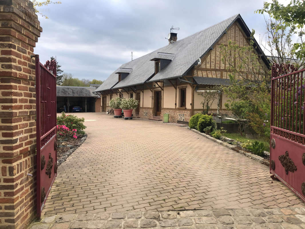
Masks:
[[[73,87],[73,86],[56,86],[56,96],[59,97],[96,97],[93,94],[95,87]]]

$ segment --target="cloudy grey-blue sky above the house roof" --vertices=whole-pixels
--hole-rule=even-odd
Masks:
[[[56,56],[66,73],[105,80],[121,64],[168,44],[170,27],[180,27],[178,39],[240,13],[256,31],[265,33],[263,0],[61,0],[38,9],[43,32],[34,49],[42,63]],[[283,0],[282,2],[285,2]]]

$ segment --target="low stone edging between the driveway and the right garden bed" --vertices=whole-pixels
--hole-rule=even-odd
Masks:
[[[201,132],[199,132],[199,131],[196,130],[196,129],[191,129],[191,128],[189,128],[189,127],[188,127],[188,129],[194,131],[195,133],[200,134],[201,136],[206,137],[207,139],[210,139],[210,140],[212,140],[212,141],[214,141],[214,142],[216,142],[216,143],[218,143],[218,144],[221,144],[221,145],[223,145],[223,146],[225,146],[225,147],[227,147],[227,148],[229,148],[229,149],[231,149],[231,150],[234,150],[235,152],[238,152],[238,153],[240,153],[240,154],[243,154],[243,155],[245,155],[245,156],[248,157],[248,158],[252,158],[254,161],[260,162],[260,163],[263,164],[263,165],[269,166],[269,164],[270,164],[270,162],[269,162],[268,160],[266,160],[266,159],[264,159],[264,158],[262,158],[262,157],[260,157],[260,156],[257,156],[257,155],[255,155],[255,154],[251,154],[251,153],[249,153],[249,152],[247,152],[247,151],[241,150],[241,149],[239,149],[238,147],[236,147],[236,146],[234,146],[234,145],[231,145],[231,144],[228,144],[227,142],[223,142],[223,141],[221,141],[221,140],[218,140],[218,139],[216,139],[216,138],[213,138],[212,136],[207,135],[207,134],[205,134],[205,133],[201,133]]]

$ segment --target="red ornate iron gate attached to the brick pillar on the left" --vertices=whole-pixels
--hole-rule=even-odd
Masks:
[[[36,139],[37,139],[37,216],[48,197],[57,175],[56,152],[56,61],[45,66],[36,62]]]

